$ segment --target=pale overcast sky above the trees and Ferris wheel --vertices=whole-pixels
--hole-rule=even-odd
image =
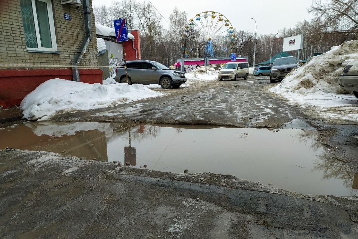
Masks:
[[[92,0],[92,3],[93,6],[103,4],[109,6],[112,1]],[[251,19],[254,18],[257,35],[276,34],[284,27],[293,28],[297,22],[313,17],[307,11],[312,0],[146,0],[149,1],[167,21],[175,6],[188,14],[188,20],[204,11],[216,11],[223,14],[237,30],[249,30],[255,33],[255,21]],[[161,19],[161,24],[164,28],[169,26],[164,19]]]

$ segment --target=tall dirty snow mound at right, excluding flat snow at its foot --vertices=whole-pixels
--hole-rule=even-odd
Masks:
[[[346,91],[339,87],[337,78],[349,62],[357,59],[358,41],[344,42],[326,53],[311,57],[302,67],[287,74],[271,91],[277,94],[293,92],[308,95],[321,89],[327,93],[343,94]]]

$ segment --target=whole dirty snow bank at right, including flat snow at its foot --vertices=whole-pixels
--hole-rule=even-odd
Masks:
[[[337,83],[343,68],[356,59],[358,41],[344,42],[312,57],[270,91],[303,108],[314,119],[330,124],[358,124],[357,98],[352,94],[342,95],[345,90]]]

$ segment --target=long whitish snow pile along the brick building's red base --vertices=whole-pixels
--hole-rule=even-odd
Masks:
[[[51,79],[39,85],[20,104],[24,118],[50,120],[56,113],[105,108],[149,97],[162,96],[139,84],[88,84]]]

